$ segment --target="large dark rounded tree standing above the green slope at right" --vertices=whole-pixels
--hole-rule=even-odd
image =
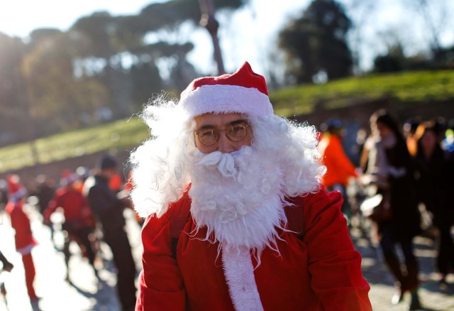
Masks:
[[[350,75],[352,55],[347,44],[350,18],[333,0],[314,0],[300,18],[279,33],[286,53],[287,77],[294,83],[328,80]]]

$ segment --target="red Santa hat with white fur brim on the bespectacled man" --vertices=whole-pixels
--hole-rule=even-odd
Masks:
[[[273,114],[265,77],[253,72],[248,62],[231,75],[192,81],[182,92],[179,104],[190,116],[208,112]]]

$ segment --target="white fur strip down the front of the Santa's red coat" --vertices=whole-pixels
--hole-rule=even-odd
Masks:
[[[222,263],[228,291],[235,310],[263,310],[255,283],[250,250],[245,247],[242,247],[239,251],[237,248],[223,247]]]

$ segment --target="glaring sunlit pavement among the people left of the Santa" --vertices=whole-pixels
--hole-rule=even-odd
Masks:
[[[35,292],[40,297],[39,307],[43,311],[119,311],[120,305],[116,295],[116,273],[111,261],[111,251],[106,244],[101,244],[102,260],[99,261],[101,271],[97,280],[86,258],[82,258],[79,248],[71,244],[70,251],[74,256],[70,259],[70,280],[65,280],[65,258],[50,242],[50,230],[43,226],[40,215],[35,209],[29,208],[33,236],[38,246],[33,249],[36,278]],[[133,255],[140,270],[140,227],[135,222],[133,212],[125,212],[128,235],[133,246]],[[58,218],[58,217],[55,217]],[[2,224],[3,223],[3,224]],[[55,234],[57,246],[62,246],[63,236]],[[8,292],[8,307],[0,298],[0,311],[32,311],[26,293],[25,277],[21,257],[14,250],[13,230],[9,227],[9,219],[0,214],[0,249],[15,265],[11,273],[2,273]],[[36,309],[35,309],[36,310]],[[34,311],[34,310],[33,310]]]

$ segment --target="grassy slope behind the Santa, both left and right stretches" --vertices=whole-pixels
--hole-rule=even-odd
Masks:
[[[396,103],[454,99],[454,70],[350,77],[279,89],[270,94],[270,100],[276,114],[292,116],[311,113],[317,102],[329,109],[384,96]],[[0,173],[33,165],[33,150],[40,163],[51,163],[114,148],[132,150],[148,136],[147,126],[133,117],[6,146],[0,148]]]

